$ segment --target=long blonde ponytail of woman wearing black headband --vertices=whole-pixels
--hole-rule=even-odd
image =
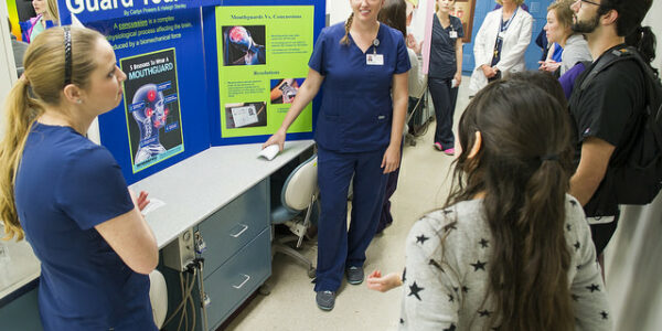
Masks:
[[[14,181],[28,134],[43,106],[30,97],[30,82],[22,76],[12,87],[6,102],[6,131],[0,142],[0,217],[4,224],[4,238],[23,239],[14,200]]]

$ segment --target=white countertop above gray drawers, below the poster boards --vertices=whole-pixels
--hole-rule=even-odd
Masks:
[[[162,248],[313,145],[313,140],[287,141],[271,161],[258,158],[261,143],[212,147],[130,188],[164,203],[146,215]],[[0,299],[40,275],[39,260],[25,241],[1,244],[11,260],[10,267],[0,260]]]

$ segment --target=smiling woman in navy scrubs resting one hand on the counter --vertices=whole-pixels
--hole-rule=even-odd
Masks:
[[[350,4],[352,14],[344,24],[320,33],[308,77],[282,125],[264,145],[278,143],[282,150],[287,129],[322,88],[316,130],[322,214],[314,286],[322,310],[333,309],[343,274],[352,285],[363,281],[365,249],[380,221],[386,174],[399,167],[407,108],[409,57],[402,32],[377,21],[384,0],[350,0]]]

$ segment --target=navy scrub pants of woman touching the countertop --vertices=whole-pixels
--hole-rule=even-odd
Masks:
[[[316,291],[337,291],[346,267],[361,267],[382,213],[387,174],[384,151],[341,153],[318,147],[322,213],[318,224]],[[348,232],[348,189],[354,175]]]

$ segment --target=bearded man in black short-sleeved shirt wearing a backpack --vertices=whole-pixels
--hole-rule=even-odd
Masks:
[[[573,30],[584,33],[595,61],[577,77],[569,100],[577,129],[577,170],[570,179],[570,194],[584,205],[600,258],[619,216],[605,174],[613,160],[627,157],[623,145],[634,135],[645,106],[644,73],[634,61],[619,61],[586,88],[579,86],[600,56],[626,47],[624,38],[640,26],[651,4],[652,0],[578,0],[572,6]]]

